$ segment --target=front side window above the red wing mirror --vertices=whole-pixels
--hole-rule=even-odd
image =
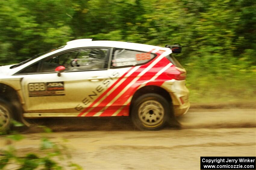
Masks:
[[[40,72],[54,72],[63,65],[66,71],[105,69],[108,49],[77,49],[42,61]]]

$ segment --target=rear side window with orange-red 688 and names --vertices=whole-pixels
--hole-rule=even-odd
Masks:
[[[131,67],[145,64],[155,58],[156,54],[135,51],[130,49],[114,48],[112,53],[111,68]]]

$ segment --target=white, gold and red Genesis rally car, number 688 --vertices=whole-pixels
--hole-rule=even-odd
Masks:
[[[80,39],[0,67],[0,130],[27,118],[131,116],[158,130],[189,109],[180,46]]]

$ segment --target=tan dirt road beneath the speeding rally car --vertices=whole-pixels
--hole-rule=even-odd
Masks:
[[[68,139],[83,169],[200,169],[200,156],[255,156],[255,109],[190,110],[181,129],[136,131],[127,118],[50,120],[52,141]],[[38,150],[42,133],[25,134],[18,152]],[[34,131],[35,132],[35,131]],[[3,139],[1,139],[3,141]],[[1,142],[1,148],[6,147]]]

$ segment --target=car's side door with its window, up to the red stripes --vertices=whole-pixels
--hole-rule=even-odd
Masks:
[[[29,75],[24,75],[21,82],[24,110],[74,113],[87,107],[104,90],[102,82],[110,76],[109,52],[109,48],[73,49],[41,60],[39,74],[26,72],[30,67],[26,68],[23,74]],[[61,76],[54,71],[58,66],[65,67]]]

